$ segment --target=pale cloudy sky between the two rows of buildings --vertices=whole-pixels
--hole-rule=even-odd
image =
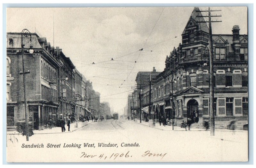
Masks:
[[[194,7],[8,8],[7,32],[28,29],[59,46],[93,89],[122,113],[139,71],[162,72]],[[199,7],[208,10],[207,7]],[[212,7],[212,34],[247,34],[246,7]],[[207,15],[206,12],[202,12]],[[139,51],[143,48],[143,51]],[[113,60],[111,60],[113,58]],[[135,63],[136,61],[136,63]],[[92,63],[95,64],[92,64]],[[114,94],[114,95],[113,95]]]

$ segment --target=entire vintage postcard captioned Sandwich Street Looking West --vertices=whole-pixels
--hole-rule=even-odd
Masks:
[[[7,162],[248,161],[246,7],[7,8],[6,38]]]

